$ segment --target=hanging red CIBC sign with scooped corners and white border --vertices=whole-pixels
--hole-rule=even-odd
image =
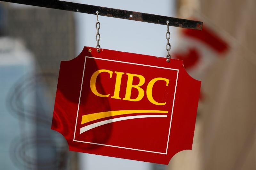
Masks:
[[[182,60],[84,47],[60,64],[52,129],[70,151],[168,165],[192,149],[200,86]]]

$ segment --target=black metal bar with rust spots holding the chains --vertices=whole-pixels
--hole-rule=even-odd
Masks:
[[[24,5],[33,5],[45,8],[53,8],[58,10],[65,11],[73,11],[73,12],[81,12],[87,14],[96,15],[96,11],[99,11],[99,15],[114,17],[114,18],[122,18],[129,19],[135,21],[149,22],[154,24],[162,24],[167,25],[166,22],[169,21],[169,26],[177,26],[181,28],[189,28],[202,30],[203,22],[193,21],[188,19],[180,19],[173,17],[166,17],[161,15],[140,13],[134,11],[125,11],[113,8],[106,8],[94,5],[87,4],[78,4],[66,1],[58,1],[58,0],[1,0],[5,2],[11,2],[16,4],[24,4]]]

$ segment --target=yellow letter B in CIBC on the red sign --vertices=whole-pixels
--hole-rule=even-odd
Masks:
[[[145,83],[145,78],[138,74],[130,74],[130,73],[126,73],[126,74],[128,75],[128,80],[127,80],[125,98],[123,100],[140,101],[144,96],[144,90],[140,88],[140,86],[142,86]],[[139,78],[138,85],[132,85],[133,77]],[[136,88],[139,92],[138,97],[136,99],[131,99],[132,88]]]

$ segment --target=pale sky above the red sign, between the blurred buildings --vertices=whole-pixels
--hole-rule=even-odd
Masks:
[[[81,0],[73,0],[82,3]],[[129,11],[137,11],[156,15],[175,17],[174,1],[168,0],[98,0],[83,1],[84,4],[97,5],[108,8],[116,8]],[[96,47],[95,40],[96,15],[76,13],[77,20],[77,55],[84,46]],[[100,22],[100,46],[103,49],[131,52],[144,55],[166,57],[165,33],[167,26],[132,21],[119,18],[99,16]],[[171,50],[177,37],[177,28],[170,26]]]

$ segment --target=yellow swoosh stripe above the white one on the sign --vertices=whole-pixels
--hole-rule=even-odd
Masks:
[[[91,122],[91,121],[94,121],[97,119],[105,118],[105,117],[126,115],[126,114],[133,114],[133,113],[168,113],[168,111],[164,111],[164,110],[116,110],[116,111],[92,113],[89,115],[83,115],[81,124]]]

